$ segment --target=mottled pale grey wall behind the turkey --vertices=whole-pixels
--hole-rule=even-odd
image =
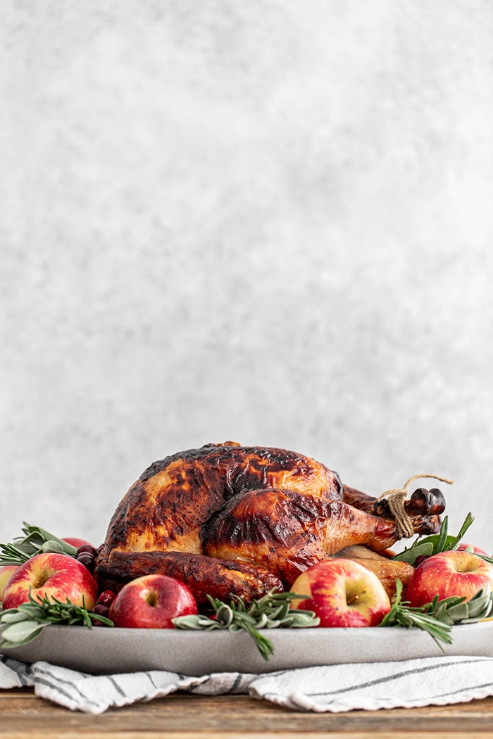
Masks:
[[[234,439],[493,551],[492,2],[0,7],[0,540]]]

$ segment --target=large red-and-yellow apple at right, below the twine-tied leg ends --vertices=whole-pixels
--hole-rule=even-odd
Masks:
[[[493,590],[493,565],[466,551],[444,551],[421,562],[409,580],[406,599],[412,606],[451,596],[469,600],[478,590],[490,585]]]

